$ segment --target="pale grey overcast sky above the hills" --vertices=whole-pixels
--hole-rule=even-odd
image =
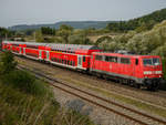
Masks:
[[[120,21],[166,8],[166,0],[0,0],[0,27]]]

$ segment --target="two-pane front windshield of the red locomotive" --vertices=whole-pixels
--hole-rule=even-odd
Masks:
[[[160,65],[159,59],[153,58],[153,59],[143,59],[144,65]]]

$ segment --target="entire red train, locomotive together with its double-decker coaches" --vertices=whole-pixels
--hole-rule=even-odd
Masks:
[[[2,50],[74,70],[83,70],[129,85],[156,90],[163,81],[159,56],[105,53],[94,45],[3,41]]]

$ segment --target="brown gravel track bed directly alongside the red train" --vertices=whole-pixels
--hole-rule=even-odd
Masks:
[[[21,60],[25,63],[28,62],[25,64],[27,66],[35,65],[35,66],[32,66],[32,67],[37,69],[38,71],[40,69],[40,72],[45,71],[44,69],[49,70],[51,67],[52,70],[50,70],[49,72],[46,71],[46,73],[49,73],[49,74],[54,74],[56,71],[68,72],[68,74],[69,73],[70,74],[71,73],[72,74],[77,74],[79,73],[79,72],[73,71],[73,70],[69,70],[69,69],[66,70],[64,67],[54,66],[54,65],[50,65],[50,64],[48,65],[48,64],[41,63],[39,61],[30,60],[30,59],[27,59],[27,58],[17,56],[17,60]],[[153,105],[153,106],[158,107],[158,108],[164,108],[164,110],[166,108],[166,106],[165,106],[165,104],[166,104],[165,103],[166,92],[165,91],[148,92],[148,91],[141,90],[141,88],[131,87],[128,85],[118,84],[118,83],[115,83],[113,81],[104,80],[104,79],[101,79],[101,77],[97,77],[97,76],[94,76],[94,75],[89,75],[89,74],[83,73],[83,72],[80,72],[80,73],[81,73],[81,75],[79,75],[79,79],[85,79],[86,77],[87,80],[91,80],[91,85],[92,86],[97,86],[97,87],[111,91],[111,92],[113,92],[117,95],[123,94],[123,96],[125,96],[125,97],[129,97],[132,100],[137,100],[138,102],[145,103],[145,104],[148,104],[148,105]],[[96,84],[95,81],[97,82],[97,84]],[[84,82],[86,82],[86,81],[84,81]],[[87,82],[87,83],[90,83],[90,82]],[[144,97],[146,96],[146,97],[144,98],[143,96]],[[156,98],[158,101],[156,101]]]

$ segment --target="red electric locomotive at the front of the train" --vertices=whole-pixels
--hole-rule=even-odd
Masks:
[[[160,58],[120,53],[93,53],[91,72],[118,80],[121,83],[157,88],[163,77]]]

